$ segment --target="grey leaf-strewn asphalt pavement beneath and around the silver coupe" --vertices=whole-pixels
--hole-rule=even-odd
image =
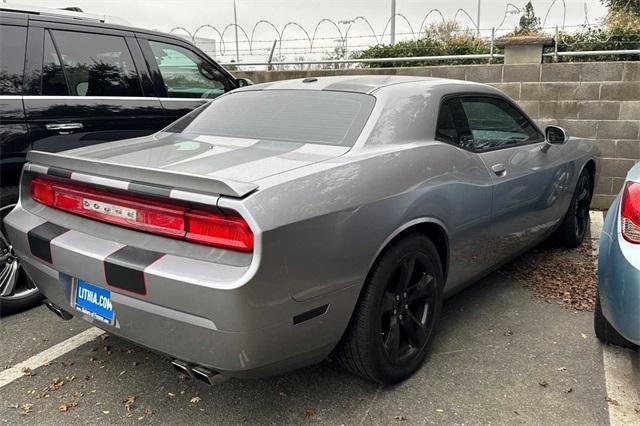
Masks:
[[[592,321],[496,272],[446,302],[429,359],[393,387],[329,361],[208,387],[103,335],[0,387],[0,423],[609,424]],[[11,367],[88,328],[43,306],[2,318],[0,359]]]

